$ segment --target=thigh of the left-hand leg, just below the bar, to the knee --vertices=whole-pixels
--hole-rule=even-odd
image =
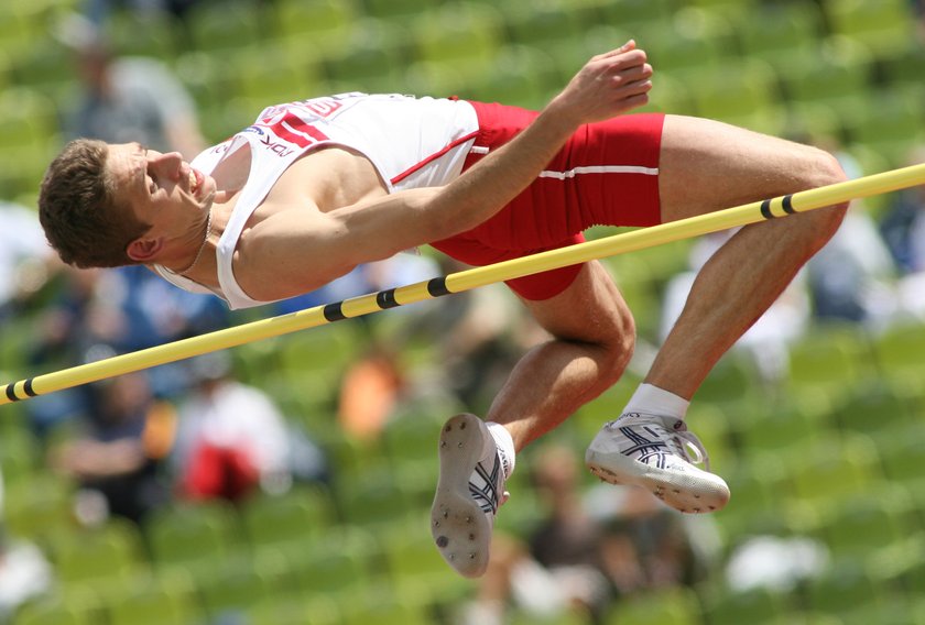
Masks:
[[[573,283],[548,299],[522,299],[537,322],[558,339],[608,344],[632,341],[632,314],[607,270],[585,263]]]

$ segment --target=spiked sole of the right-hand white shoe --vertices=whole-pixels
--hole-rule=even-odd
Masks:
[[[683,513],[717,512],[729,503],[729,486],[722,478],[706,471],[687,475],[649,467],[622,453],[591,449],[585,454],[585,465],[605,482],[640,486]]]

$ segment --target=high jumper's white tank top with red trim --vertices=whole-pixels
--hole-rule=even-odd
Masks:
[[[216,250],[220,288],[213,290],[162,265],[154,268],[181,288],[218,295],[232,309],[268,304],[243,292],[231,260],[248,219],[296,158],[323,145],[349,147],[369,158],[391,194],[443,186],[457,177],[477,132],[476,111],[463,100],[342,94],[263,109],[253,124],[191,163],[211,174],[225,157],[250,145],[248,182]]]

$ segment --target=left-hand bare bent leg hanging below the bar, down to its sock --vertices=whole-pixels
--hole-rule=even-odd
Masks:
[[[600,263],[555,297],[523,301],[553,339],[520,360],[486,417],[518,451],[616,383],[635,344],[632,314]]]

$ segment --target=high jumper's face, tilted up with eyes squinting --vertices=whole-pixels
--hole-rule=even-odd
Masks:
[[[108,174],[116,195],[135,217],[151,226],[145,237],[183,239],[202,235],[215,199],[215,180],[171,152],[162,154],[138,143],[110,145]]]

